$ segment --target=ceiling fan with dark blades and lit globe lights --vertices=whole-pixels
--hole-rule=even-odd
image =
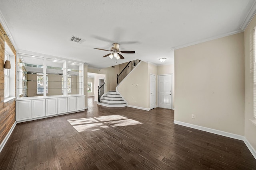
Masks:
[[[107,57],[109,56],[110,59],[112,59],[113,57],[115,57],[117,60],[118,59],[124,59],[124,57],[120,54],[120,53],[128,53],[128,54],[134,54],[135,51],[119,51],[119,44],[118,43],[114,43],[113,47],[111,47],[110,50],[105,50],[105,49],[98,49],[98,48],[94,48],[97,50],[103,50],[103,51],[110,51],[111,53],[104,55],[103,57]]]

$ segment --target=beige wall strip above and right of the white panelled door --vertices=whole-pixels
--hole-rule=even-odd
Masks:
[[[172,74],[172,108],[174,108],[174,64],[157,66],[157,75]]]

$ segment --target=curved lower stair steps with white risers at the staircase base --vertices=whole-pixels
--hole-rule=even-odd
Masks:
[[[116,91],[108,91],[100,98],[98,105],[106,107],[125,107],[126,103]]]

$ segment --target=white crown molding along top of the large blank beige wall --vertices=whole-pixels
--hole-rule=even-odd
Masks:
[[[244,32],[244,31],[242,29],[239,29],[239,30],[232,31],[232,32],[229,32],[229,33],[224,33],[222,35],[202,39],[202,40],[199,40],[199,41],[194,41],[194,42],[191,42],[191,43],[186,43],[186,44],[183,44],[183,45],[178,45],[176,47],[172,47],[172,49],[177,50],[177,49],[181,49],[181,48],[188,47],[188,46],[191,46],[191,45],[204,43],[204,42],[207,42],[207,41],[211,41],[211,40],[214,40],[214,39],[226,37],[226,36],[229,36],[229,35],[234,35],[234,34],[241,33],[241,32]]]

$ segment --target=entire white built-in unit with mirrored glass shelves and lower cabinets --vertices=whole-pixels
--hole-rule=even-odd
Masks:
[[[16,57],[16,121],[84,110],[84,63],[24,53]]]

